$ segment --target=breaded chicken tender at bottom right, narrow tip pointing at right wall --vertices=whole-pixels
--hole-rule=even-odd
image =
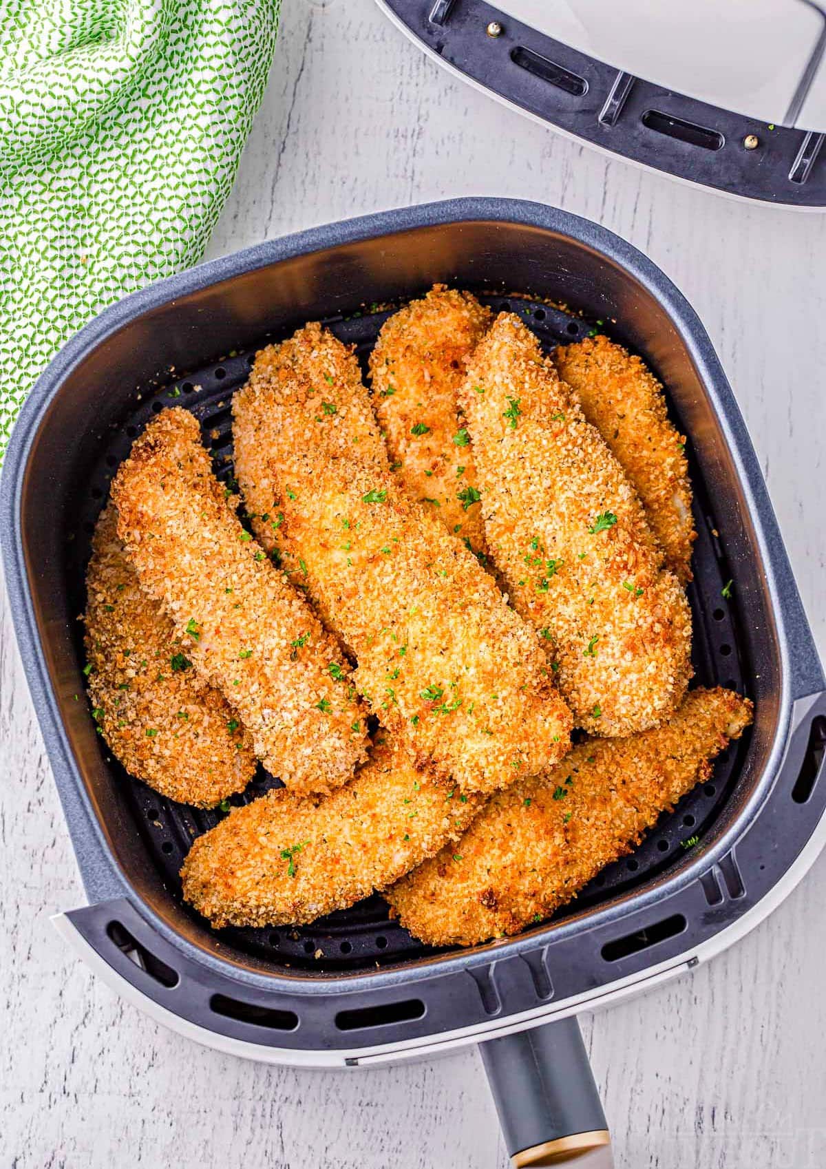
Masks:
[[[708,777],[751,712],[730,690],[695,690],[666,726],[585,740],[544,780],[493,796],[458,843],[388,891],[390,905],[430,946],[473,946],[546,919]]]

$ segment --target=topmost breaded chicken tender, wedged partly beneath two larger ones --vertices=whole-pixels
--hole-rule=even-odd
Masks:
[[[481,514],[457,493],[478,482],[457,395],[492,319],[470,292],[436,284],[384,323],[370,354],[373,404],[400,482],[414,499],[438,505],[449,531],[481,558]]]

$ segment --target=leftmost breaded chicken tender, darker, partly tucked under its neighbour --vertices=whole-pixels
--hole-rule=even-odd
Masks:
[[[126,770],[155,791],[210,808],[243,791],[252,743],[222,694],[203,682],[172,622],[143,592],[100,513],[86,570],[89,698],[100,733]]]

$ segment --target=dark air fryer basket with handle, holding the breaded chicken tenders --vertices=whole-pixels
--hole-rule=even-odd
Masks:
[[[695,487],[696,680],[752,698],[754,727],[630,858],[518,938],[428,949],[379,897],[312,926],[215,933],[182,902],[178,871],[217,814],[131,780],[85,701],[77,617],[95,519],[153,411],[192,409],[229,477],[230,397],[258,346],[320,318],[365,355],[388,305],[437,281],[519,312],[548,347],[604,323],[664,380]],[[356,1066],[483,1042],[516,1163],[575,1158],[606,1140],[575,1014],[730,945],[824,843],[824,676],[740,411],[676,289],[584,220],[513,200],[437,203],[265,243],[138,292],[41,376],[0,507],[20,650],[89,899],[56,922],[125,997],[210,1046]],[[272,782],[261,773],[232,802]]]

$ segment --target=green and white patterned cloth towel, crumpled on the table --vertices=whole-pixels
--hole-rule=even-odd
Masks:
[[[235,178],[279,0],[0,0],[0,462],[37,374],[194,263]]]

